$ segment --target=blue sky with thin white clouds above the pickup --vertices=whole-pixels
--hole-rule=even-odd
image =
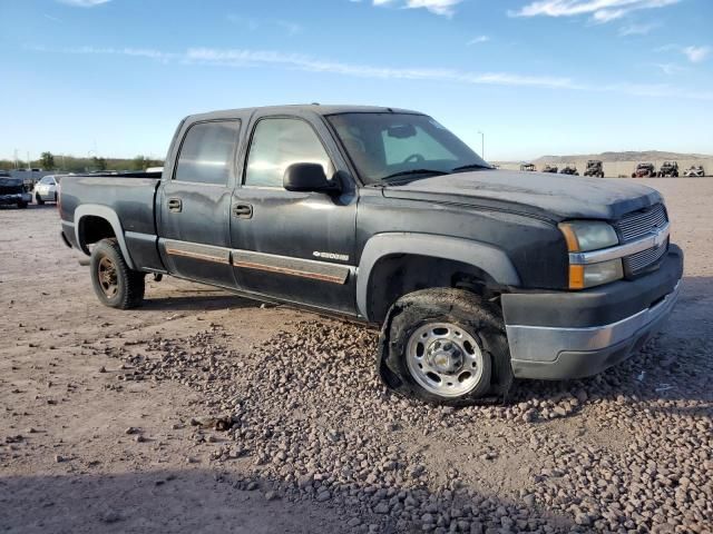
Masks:
[[[273,103],[436,117],[487,159],[713,152],[711,0],[0,0],[0,157],[164,157]],[[92,152],[94,154],[94,152]]]

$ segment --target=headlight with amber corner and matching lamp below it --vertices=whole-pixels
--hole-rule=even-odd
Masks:
[[[611,225],[598,220],[576,220],[563,222],[559,229],[567,241],[569,253],[587,253],[615,247],[619,244],[616,231]],[[569,289],[585,289],[600,286],[624,277],[621,259],[611,259],[596,264],[570,264]]]

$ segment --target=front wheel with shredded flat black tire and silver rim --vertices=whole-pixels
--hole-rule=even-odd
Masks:
[[[511,382],[498,309],[460,289],[423,289],[400,298],[389,328],[385,365],[397,392],[431,404],[463,406]]]

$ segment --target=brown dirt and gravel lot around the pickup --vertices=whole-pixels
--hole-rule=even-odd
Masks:
[[[52,206],[1,209],[0,530],[713,532],[713,179],[648,182],[686,253],[665,332],[460,411],[389,394],[356,326],[172,279],[105,308]]]

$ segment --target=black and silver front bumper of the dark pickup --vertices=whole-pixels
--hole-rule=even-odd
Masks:
[[[672,245],[656,271],[635,280],[577,293],[504,295],[514,375],[582,378],[626,359],[663,325],[682,275],[683,253]]]

